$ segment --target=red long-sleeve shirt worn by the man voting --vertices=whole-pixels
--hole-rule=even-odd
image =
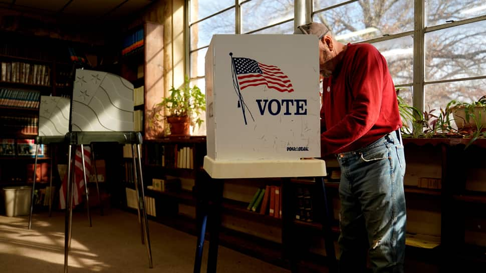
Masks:
[[[370,44],[348,44],[322,100],[322,155],[363,148],[402,126],[386,60]]]

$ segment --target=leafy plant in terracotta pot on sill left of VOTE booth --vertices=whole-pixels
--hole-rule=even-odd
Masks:
[[[205,96],[201,90],[193,85],[190,87],[189,78],[185,77],[180,88],[169,90],[170,95],[162,98],[157,104],[166,113],[163,115],[169,124],[171,136],[188,136],[189,126],[201,126],[199,115],[206,110]]]

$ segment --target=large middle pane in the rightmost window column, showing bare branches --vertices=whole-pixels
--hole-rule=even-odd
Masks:
[[[425,34],[425,80],[486,75],[486,21]]]

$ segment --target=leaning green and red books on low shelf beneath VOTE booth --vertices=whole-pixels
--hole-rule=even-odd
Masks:
[[[282,187],[267,185],[265,188],[259,188],[247,209],[262,215],[282,218]]]

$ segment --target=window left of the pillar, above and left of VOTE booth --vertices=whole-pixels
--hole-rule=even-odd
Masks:
[[[198,0],[188,1],[190,43],[188,70],[191,85],[205,90],[204,58],[214,34],[292,34],[294,0]],[[235,9],[239,5],[240,9]],[[235,12],[239,10],[240,22]],[[241,30],[237,30],[241,26]],[[202,119],[205,118],[203,115]],[[191,131],[192,132],[192,131]],[[206,124],[195,128],[194,135],[205,135]]]

